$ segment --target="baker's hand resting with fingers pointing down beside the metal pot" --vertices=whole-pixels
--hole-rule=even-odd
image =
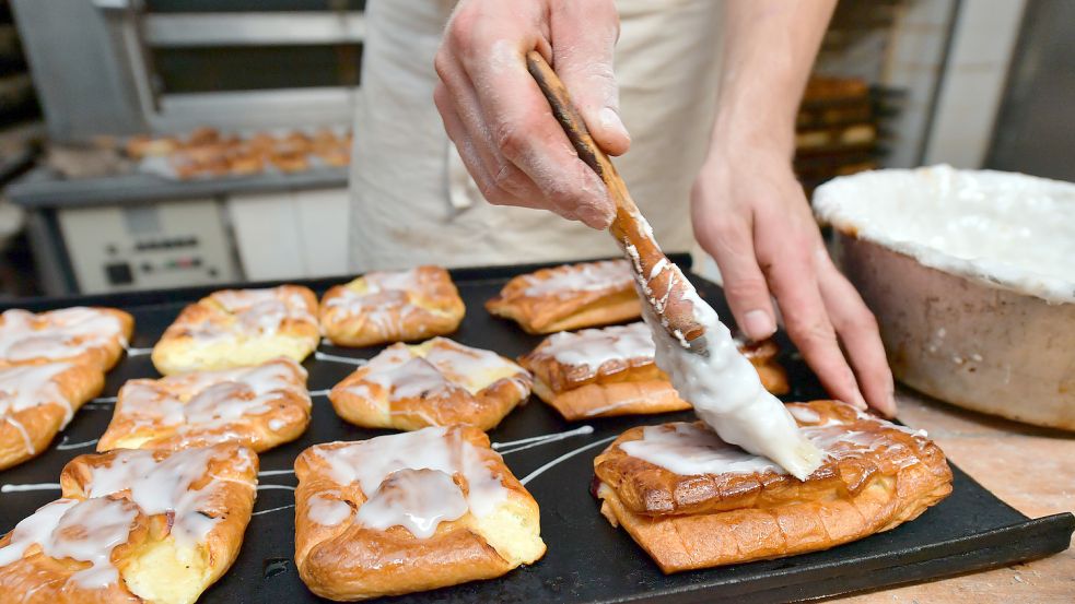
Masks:
[[[877,321],[826,252],[790,154],[736,146],[711,150],[691,193],[694,236],[716,259],[736,322],[753,340],[772,335],[775,297],[829,393],[893,415]]]

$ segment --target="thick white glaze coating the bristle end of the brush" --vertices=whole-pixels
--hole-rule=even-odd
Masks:
[[[639,220],[645,221],[642,216]],[[635,262],[635,272],[641,274],[638,250],[630,245],[624,249]],[[691,352],[682,334],[677,332],[673,336],[662,324],[667,319],[657,317],[654,308],[665,308],[668,299],[654,296],[650,281],[661,271],[652,271],[648,280],[639,279],[636,285],[639,295],[650,300],[642,305],[642,318],[650,325],[656,345],[657,367],[668,375],[679,398],[691,403],[698,416],[726,442],[764,455],[796,478],[805,479],[821,464],[820,451],[799,433],[780,399],[761,384],[758,371],[739,352],[732,332],[713,307],[699,297],[674,264],[665,267],[662,271],[675,271],[673,279],[682,281],[683,299],[691,303],[694,321],[705,333],[705,354]]]

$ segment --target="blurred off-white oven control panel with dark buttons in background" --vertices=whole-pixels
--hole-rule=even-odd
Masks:
[[[84,294],[239,280],[215,200],[62,209],[57,218]]]

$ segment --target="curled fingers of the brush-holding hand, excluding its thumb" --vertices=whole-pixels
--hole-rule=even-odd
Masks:
[[[469,2],[453,15],[435,60],[445,128],[492,203],[545,208],[606,228],[615,212],[608,191],[579,158],[526,69],[527,50],[548,50],[548,24],[539,22],[535,4],[515,12],[509,4],[515,3]]]

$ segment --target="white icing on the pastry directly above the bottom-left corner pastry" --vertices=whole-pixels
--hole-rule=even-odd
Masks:
[[[137,425],[180,426],[180,434],[213,429],[268,413],[269,403],[289,393],[308,400],[302,383],[292,381],[296,374],[305,378],[306,370],[290,359],[277,359],[256,367],[131,380],[120,390],[117,413],[133,416]],[[270,425],[273,430],[279,427]]]

